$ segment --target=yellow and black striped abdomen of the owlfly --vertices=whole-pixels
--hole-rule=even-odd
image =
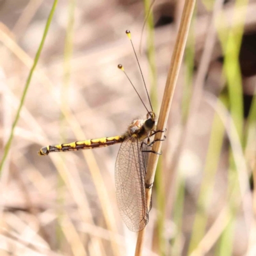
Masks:
[[[99,147],[107,147],[109,145],[114,145],[116,143],[121,143],[125,140],[125,136],[115,136],[115,137],[106,137],[95,140],[84,140],[84,141],[75,141],[68,144],[60,145],[50,145],[43,147],[38,152],[39,156],[47,156],[50,152],[65,152],[65,151],[75,151],[81,149],[91,149]]]

